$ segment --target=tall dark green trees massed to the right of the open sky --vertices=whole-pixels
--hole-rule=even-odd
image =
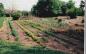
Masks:
[[[83,16],[84,15],[84,1],[81,1],[80,7],[75,7],[75,3],[72,0],[68,2],[60,0],[38,0],[37,5],[32,8],[32,14],[39,17],[53,17],[53,16],[65,16],[70,17]]]

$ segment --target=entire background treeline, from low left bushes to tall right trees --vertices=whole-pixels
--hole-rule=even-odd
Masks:
[[[28,4],[29,5],[29,4]],[[14,20],[19,19],[21,16],[33,15],[37,17],[55,17],[55,16],[84,16],[85,2],[81,1],[79,7],[75,7],[72,0],[68,2],[60,0],[38,0],[30,12],[18,10],[5,10],[4,5],[0,3],[0,17],[7,16],[13,17]]]

